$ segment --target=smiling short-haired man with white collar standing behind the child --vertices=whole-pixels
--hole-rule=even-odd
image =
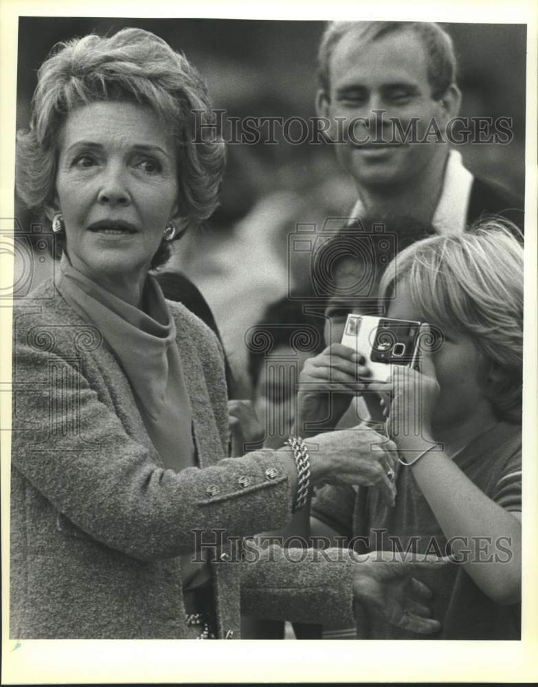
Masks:
[[[461,93],[451,38],[438,25],[331,22],[318,60],[317,114],[355,180],[352,216],[381,221],[390,211],[443,233],[502,214],[523,229],[523,203],[473,177],[447,144]]]

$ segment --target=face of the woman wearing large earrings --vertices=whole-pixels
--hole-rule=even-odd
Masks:
[[[132,102],[71,111],[60,132],[56,205],[73,266],[105,286],[139,288],[178,214],[175,146],[159,117]]]

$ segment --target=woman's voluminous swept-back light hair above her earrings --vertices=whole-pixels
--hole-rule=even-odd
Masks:
[[[135,28],[58,43],[39,69],[30,129],[17,134],[16,190],[25,204],[42,210],[50,203],[61,127],[70,111],[102,100],[137,102],[157,113],[175,140],[186,226],[208,218],[218,204],[225,146],[208,126],[205,83],[166,41]]]

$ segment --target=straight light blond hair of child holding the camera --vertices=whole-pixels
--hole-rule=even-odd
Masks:
[[[497,381],[486,387],[495,416],[521,423],[523,247],[506,221],[482,221],[463,234],[414,243],[381,280],[384,302],[405,280],[417,317],[471,337]],[[396,274],[396,278],[394,278]]]

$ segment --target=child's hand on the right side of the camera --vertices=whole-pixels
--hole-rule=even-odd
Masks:
[[[421,340],[430,336],[427,324],[421,327]],[[417,372],[401,365],[393,365],[389,378],[392,390],[390,409],[387,396],[381,401],[387,430],[397,445],[416,436],[431,436],[431,414],[440,392],[434,362],[425,346],[421,346],[421,370]]]

